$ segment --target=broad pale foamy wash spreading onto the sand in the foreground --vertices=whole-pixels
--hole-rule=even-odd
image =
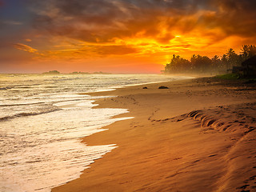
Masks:
[[[62,102],[71,105],[50,114],[2,122],[5,134],[0,147],[0,190],[50,191],[78,178],[95,159],[116,146],[86,146],[79,142],[103,126],[128,118],[111,118],[123,109],[91,109],[92,101]],[[65,105],[64,105],[65,106]]]

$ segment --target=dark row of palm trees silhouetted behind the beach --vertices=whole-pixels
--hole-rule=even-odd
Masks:
[[[254,55],[256,55],[256,46],[253,45],[242,46],[239,54],[230,48],[221,57],[214,55],[213,58],[193,54],[188,60],[174,54],[170,63],[166,64],[164,72],[166,74],[223,74],[226,70],[231,70],[233,66],[241,66],[242,62]]]

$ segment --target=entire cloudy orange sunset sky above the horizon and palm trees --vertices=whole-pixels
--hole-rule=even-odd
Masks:
[[[0,73],[152,74],[256,45],[255,0],[0,0]]]

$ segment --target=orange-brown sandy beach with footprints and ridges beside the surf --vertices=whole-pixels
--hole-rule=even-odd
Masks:
[[[134,118],[84,138],[118,148],[52,191],[256,191],[255,83],[194,78],[91,95],[116,95],[95,103]]]

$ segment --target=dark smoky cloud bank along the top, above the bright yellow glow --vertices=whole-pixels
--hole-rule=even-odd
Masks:
[[[34,27],[50,34],[85,42],[113,42],[114,38],[154,38],[167,43],[173,30],[182,34],[200,28],[202,34],[254,36],[256,1],[243,0],[49,0],[32,1]],[[161,26],[168,32],[162,35]]]

